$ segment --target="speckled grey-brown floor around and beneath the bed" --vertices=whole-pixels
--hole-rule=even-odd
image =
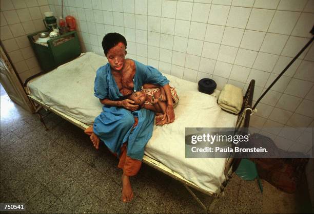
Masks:
[[[45,131],[36,115],[11,102],[1,87],[0,203],[25,203],[28,212],[204,212],[181,183],[146,165],[131,179],[135,198],[121,201],[117,159],[96,151],[78,127],[50,114]],[[298,212],[297,195],[236,175],[214,213]],[[210,197],[198,193],[206,203]]]

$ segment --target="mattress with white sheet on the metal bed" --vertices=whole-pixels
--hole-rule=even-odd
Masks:
[[[102,111],[94,97],[96,70],[107,63],[105,57],[86,53],[28,84],[30,94],[56,110],[91,124]],[[175,121],[154,126],[145,154],[160,161],[200,188],[217,192],[225,180],[226,159],[186,159],[185,127],[234,127],[237,116],[222,111],[214,96],[197,91],[197,83],[165,75],[178,91],[180,101]]]

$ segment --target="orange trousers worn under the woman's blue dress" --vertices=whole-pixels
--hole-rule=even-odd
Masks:
[[[133,125],[133,128],[138,124],[139,121],[136,117],[134,117],[134,120],[135,123]],[[93,133],[93,126],[88,127],[84,132],[88,135],[91,135]],[[113,155],[117,156],[116,153],[113,153]],[[123,174],[126,176],[134,176],[138,174],[141,165],[142,161],[127,156],[127,142],[123,143],[118,164],[118,167],[123,169]]]

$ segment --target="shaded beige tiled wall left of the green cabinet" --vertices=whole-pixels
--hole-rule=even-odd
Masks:
[[[41,71],[27,34],[45,29],[47,0],[1,0],[1,42],[22,81]]]

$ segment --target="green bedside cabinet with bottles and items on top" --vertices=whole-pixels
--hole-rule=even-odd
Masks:
[[[33,36],[41,32],[45,31],[32,33],[27,37],[44,72],[51,71],[81,55],[81,45],[76,31],[51,38],[46,46],[38,44],[33,39]]]

